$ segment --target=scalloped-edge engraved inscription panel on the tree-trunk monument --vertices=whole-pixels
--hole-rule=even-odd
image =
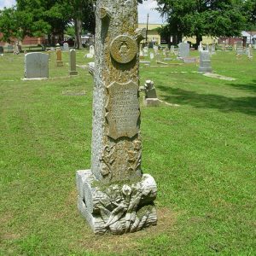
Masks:
[[[137,84],[132,81],[127,84],[113,82],[108,86],[106,119],[109,137],[118,139],[134,137],[137,134],[137,120],[140,115],[137,90]]]

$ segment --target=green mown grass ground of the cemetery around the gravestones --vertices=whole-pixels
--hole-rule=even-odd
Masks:
[[[77,53],[80,66],[84,51]],[[197,55],[197,53],[193,53]],[[141,65],[141,85],[179,107],[142,106],[143,172],[158,184],[159,224],[124,236],[94,236],[76,206],[75,172],[90,168],[93,79],[21,81],[24,55],[0,57],[0,255],[255,255],[256,60],[212,56]],[[177,63],[177,61],[167,61]],[[85,94],[84,94],[85,91]]]

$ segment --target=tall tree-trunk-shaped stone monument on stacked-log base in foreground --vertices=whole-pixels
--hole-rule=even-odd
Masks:
[[[96,2],[91,169],[77,172],[78,207],[96,234],[157,222],[154,178],[141,170],[137,0]]]

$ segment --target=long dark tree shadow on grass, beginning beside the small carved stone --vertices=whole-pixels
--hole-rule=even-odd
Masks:
[[[190,105],[195,108],[216,108],[222,112],[256,115],[256,97],[253,96],[230,98],[212,94],[198,94],[195,91],[161,85],[158,86],[158,89],[166,93],[166,95],[161,96],[165,102]]]

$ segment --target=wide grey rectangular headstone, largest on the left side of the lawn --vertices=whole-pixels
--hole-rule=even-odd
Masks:
[[[25,79],[48,79],[48,54],[32,52],[25,55]]]

